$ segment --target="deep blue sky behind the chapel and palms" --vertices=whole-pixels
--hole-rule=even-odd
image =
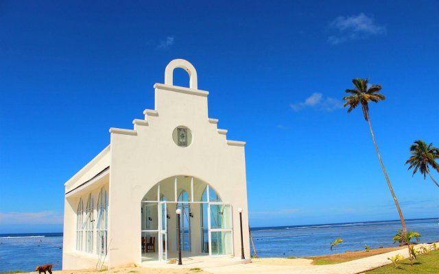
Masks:
[[[342,108],[354,77],[387,97],[370,116],[405,218],[437,217],[439,189],[404,162],[417,138],[439,146],[439,3],[321,2],[0,1],[0,233],[60,232],[64,182],[154,108],[175,58],[247,142],[250,225],[399,219]]]

